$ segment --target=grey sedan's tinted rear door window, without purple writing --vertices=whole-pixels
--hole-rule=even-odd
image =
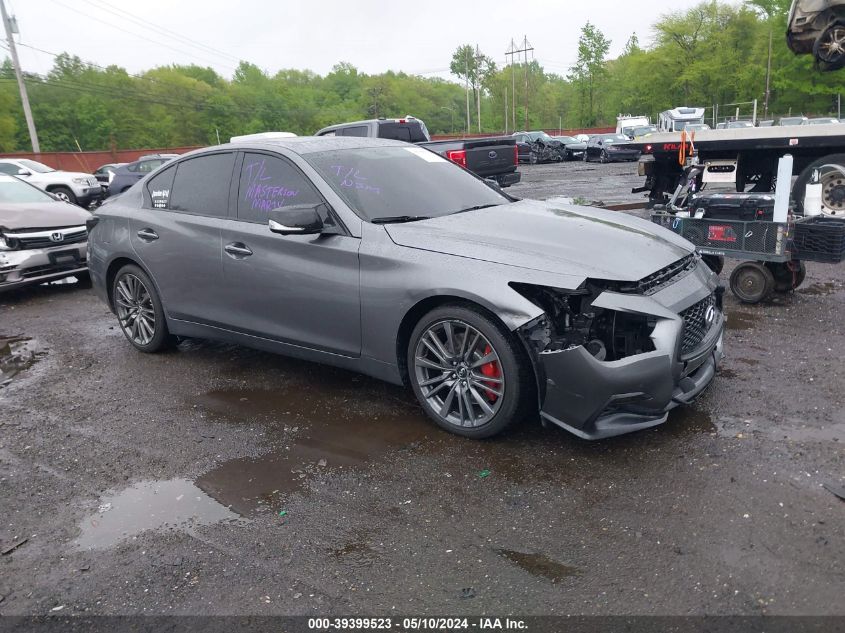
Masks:
[[[176,165],[170,191],[170,209],[198,215],[225,217],[235,154],[208,154]]]

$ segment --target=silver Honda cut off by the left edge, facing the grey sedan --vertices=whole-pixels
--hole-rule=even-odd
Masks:
[[[87,280],[91,213],[0,174],[0,292],[65,277]]]

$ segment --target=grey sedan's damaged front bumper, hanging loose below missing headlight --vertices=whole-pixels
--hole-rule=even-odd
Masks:
[[[701,289],[693,300],[691,305],[712,293],[713,309],[706,333],[690,350],[683,349],[681,311],[668,308],[669,302],[660,301],[659,294],[600,295],[594,305],[656,321],[651,333],[654,350],[613,361],[599,360],[583,346],[540,352],[535,360],[542,381],[543,420],[588,440],[665,422],[671,409],[692,402],[713,380],[723,357],[722,291]]]

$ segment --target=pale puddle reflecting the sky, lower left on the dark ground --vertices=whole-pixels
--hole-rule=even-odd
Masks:
[[[98,511],[80,524],[75,544],[103,549],[146,530],[187,530],[236,519],[237,514],[187,479],[141,481],[103,497]]]

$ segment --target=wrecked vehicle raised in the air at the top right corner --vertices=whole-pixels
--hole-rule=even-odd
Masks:
[[[786,43],[797,55],[812,54],[821,70],[845,66],[845,0],[793,0]]]

